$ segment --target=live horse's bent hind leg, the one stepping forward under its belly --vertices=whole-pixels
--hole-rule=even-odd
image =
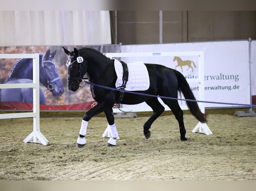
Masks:
[[[151,135],[149,128],[151,127],[152,123],[161,115],[161,113],[164,111],[164,106],[158,101],[156,97],[153,97],[151,99],[148,99],[146,103],[152,108],[153,115],[146,121],[146,123],[143,125],[143,133],[148,139]]]

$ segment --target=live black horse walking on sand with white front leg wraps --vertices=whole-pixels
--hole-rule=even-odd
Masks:
[[[144,135],[148,139],[150,137],[149,128],[151,124],[160,116],[164,111],[164,106],[158,101],[157,97],[149,95],[159,95],[164,97],[177,98],[182,92],[185,99],[196,100],[193,92],[184,78],[184,76],[174,70],[157,64],[145,64],[148,71],[150,86],[146,91],[134,91],[136,93],[143,93],[147,95],[137,95],[133,93],[124,93],[120,91],[113,91],[117,80],[117,74],[114,67],[114,59],[109,59],[102,53],[89,47],[82,47],[79,49],[74,48],[74,51],[70,52],[62,47],[67,55],[67,68],[68,68],[68,88],[71,91],[77,91],[82,82],[83,76],[87,74],[88,80],[91,83],[91,92],[93,98],[98,102],[96,106],[85,113],[80,134],[77,140],[77,146],[83,147],[86,143],[85,134],[88,121],[98,113],[104,111],[108,124],[111,127],[112,137],[108,140],[108,146],[115,146],[115,139],[118,136],[114,116],[113,106],[115,103],[122,104],[138,104],[145,101],[153,110],[153,115],[143,125]],[[120,61],[124,64],[124,62]],[[128,77],[129,82],[129,77]],[[95,85],[94,85],[95,84]],[[96,86],[97,85],[97,86]],[[110,87],[106,89],[100,86]],[[177,99],[162,98],[162,101],[171,109],[175,118],[179,123],[180,140],[186,141],[185,127],[183,122],[183,111],[181,110]],[[207,122],[205,114],[203,114],[197,102],[186,101],[186,104],[190,112],[202,123]]]

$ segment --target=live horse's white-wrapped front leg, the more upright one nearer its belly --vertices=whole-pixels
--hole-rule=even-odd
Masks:
[[[109,107],[109,108],[105,109],[104,113],[106,115],[108,125],[109,125],[110,131],[111,131],[111,137],[108,140],[107,146],[116,146],[116,139],[118,137],[118,132],[117,132],[117,129],[116,129],[116,124],[115,124],[115,119],[114,119],[112,107]]]

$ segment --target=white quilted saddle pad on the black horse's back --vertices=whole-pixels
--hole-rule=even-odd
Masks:
[[[114,59],[117,75],[116,88],[123,84],[123,66],[122,63]],[[143,62],[128,63],[128,81],[125,90],[127,91],[145,91],[149,88],[149,76],[146,66]]]

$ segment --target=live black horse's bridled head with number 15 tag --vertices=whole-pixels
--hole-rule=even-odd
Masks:
[[[68,88],[75,92],[80,87],[83,76],[87,72],[87,61],[80,56],[78,50],[74,48],[74,51],[70,52],[62,47],[64,52],[69,55],[66,66],[68,68]]]

